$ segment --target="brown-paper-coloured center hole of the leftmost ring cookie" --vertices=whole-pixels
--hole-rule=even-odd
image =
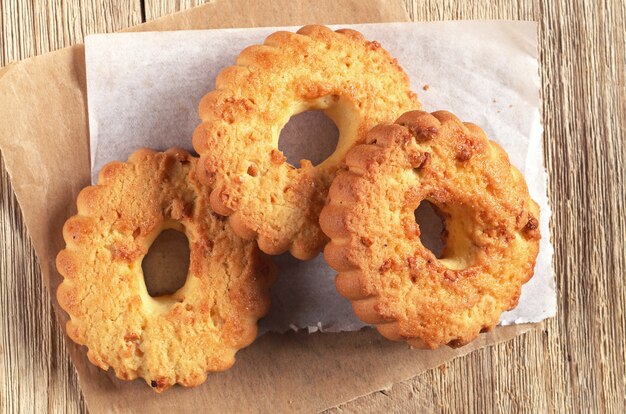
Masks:
[[[177,230],[163,230],[141,262],[148,293],[171,295],[183,287],[189,272],[189,241]]]

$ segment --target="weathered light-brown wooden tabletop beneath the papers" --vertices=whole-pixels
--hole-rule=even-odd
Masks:
[[[197,3],[0,0],[0,66]],[[558,317],[330,411],[626,412],[625,3],[406,3],[414,20],[540,23]],[[0,411],[85,412],[19,206],[0,170]]]

